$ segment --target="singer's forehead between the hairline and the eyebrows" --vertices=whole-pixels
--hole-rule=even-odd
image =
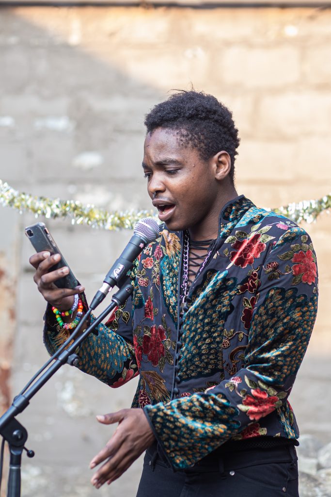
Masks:
[[[197,152],[189,144],[184,145],[178,130],[156,128],[147,134],[144,142],[144,158],[153,162],[162,160],[162,157],[174,157],[179,160]]]

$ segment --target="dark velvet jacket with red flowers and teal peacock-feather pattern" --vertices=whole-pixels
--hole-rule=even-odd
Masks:
[[[143,408],[174,469],[229,439],[299,436],[288,403],[317,312],[305,230],[240,196],[190,288],[182,321],[183,233],[160,227],[132,271],[134,291],[79,349],[79,368],[111,387],[139,375]],[[50,353],[66,336],[46,313]]]

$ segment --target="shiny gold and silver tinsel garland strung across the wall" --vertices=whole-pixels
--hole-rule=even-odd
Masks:
[[[156,217],[155,211],[130,210],[108,212],[94,205],[84,205],[77,200],[60,200],[59,198],[36,197],[14,190],[0,180],[0,204],[17,209],[20,213],[32,212],[36,218],[69,218],[72,224],[86,224],[92,228],[104,230],[132,229],[135,223],[146,216]],[[303,200],[275,209],[268,209],[288,219],[300,223],[304,220],[312,223],[317,216],[331,208],[331,194],[318,200]]]

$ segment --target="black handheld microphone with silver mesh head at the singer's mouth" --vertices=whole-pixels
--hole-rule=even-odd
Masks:
[[[156,239],[159,234],[159,225],[153,218],[140,219],[134,226],[133,236],[120,257],[112,265],[103,285],[94,295],[90,308],[95,309],[106,297],[107,293],[118,286],[120,288],[132,270],[133,261],[144,247]]]

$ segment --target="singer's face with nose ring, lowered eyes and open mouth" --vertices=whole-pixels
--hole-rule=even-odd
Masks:
[[[210,217],[217,223],[214,163],[201,160],[196,148],[184,147],[175,131],[157,128],[147,135],[142,166],[148,194],[168,229],[199,235]]]

